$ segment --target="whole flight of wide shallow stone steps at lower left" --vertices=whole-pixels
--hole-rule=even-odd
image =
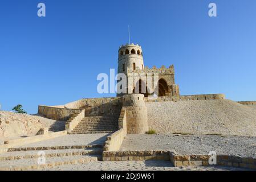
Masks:
[[[42,157],[45,159],[43,163]],[[102,160],[102,146],[97,144],[9,148],[8,152],[0,154],[0,171],[42,170],[99,160]]]

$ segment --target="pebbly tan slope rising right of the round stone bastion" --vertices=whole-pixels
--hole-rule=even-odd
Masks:
[[[256,110],[230,100],[151,102],[148,123],[160,133],[256,136]]]

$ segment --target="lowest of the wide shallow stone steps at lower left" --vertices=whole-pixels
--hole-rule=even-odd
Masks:
[[[0,162],[0,171],[26,171],[47,169],[66,164],[84,164],[101,160],[101,156],[63,156],[62,158],[46,158],[45,164],[39,164],[38,158],[5,160]]]

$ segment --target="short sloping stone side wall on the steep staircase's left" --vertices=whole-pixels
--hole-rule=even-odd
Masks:
[[[75,127],[82,121],[84,114],[84,109],[82,109],[80,113],[72,114],[71,118],[65,123],[65,130],[67,130],[68,133],[71,133],[72,130],[74,130]]]

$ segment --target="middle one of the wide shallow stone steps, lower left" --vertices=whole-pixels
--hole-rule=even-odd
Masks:
[[[0,154],[0,162],[3,160],[20,160],[20,159],[33,159],[38,158],[39,151],[15,151],[5,152]],[[87,149],[66,149],[66,150],[46,150],[44,154],[46,158],[63,157],[63,156],[75,156],[75,155],[101,155],[102,148],[95,148],[92,150]]]

